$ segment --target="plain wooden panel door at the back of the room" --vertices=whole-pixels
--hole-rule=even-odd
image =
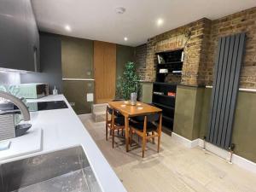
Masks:
[[[94,42],[96,103],[110,102],[115,96],[116,44]]]

